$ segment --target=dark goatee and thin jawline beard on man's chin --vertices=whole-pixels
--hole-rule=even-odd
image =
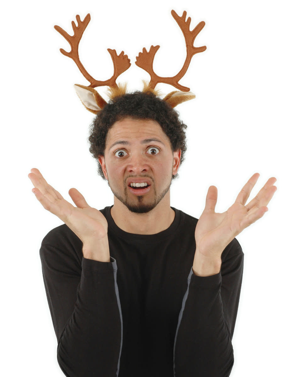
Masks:
[[[151,202],[147,202],[147,199],[145,198],[145,195],[136,195],[137,204],[133,204],[132,201],[128,198],[128,187],[125,186],[125,198],[121,196],[119,193],[115,192],[115,190],[112,189],[109,179],[108,179],[108,186],[110,187],[111,191],[113,192],[114,196],[116,196],[117,199],[119,199],[120,202],[122,202],[129,211],[134,212],[134,213],[147,213],[153,208],[156,207],[156,205],[160,202],[161,199],[164,198],[165,194],[168,192],[171,186],[172,179],[168,186],[163,190],[159,195],[156,193],[155,185],[152,184],[151,189],[154,189],[154,198],[152,199]]]

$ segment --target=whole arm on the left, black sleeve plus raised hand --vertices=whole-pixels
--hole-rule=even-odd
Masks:
[[[106,218],[77,189],[69,190],[74,207],[38,169],[28,177],[37,200],[65,223],[46,234],[40,248],[60,368],[69,377],[116,377],[123,325]]]

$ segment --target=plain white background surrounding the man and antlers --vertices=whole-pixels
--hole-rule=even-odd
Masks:
[[[188,150],[171,186],[171,206],[199,218],[208,187],[218,188],[224,212],[254,173],[250,198],[275,176],[278,190],[268,212],[236,238],[245,254],[231,377],[285,376],[289,346],[289,15],[285,0],[25,1],[2,5],[2,351],[5,376],[62,376],[57,340],[43,285],[39,248],[63,222],[46,211],[28,178],[37,167],[67,200],[76,187],[98,209],[113,204],[107,182],[87,141],[93,114],[73,84],[88,85],[62,55],[71,21],[91,21],[80,43],[82,63],[98,80],[113,74],[107,48],[125,51],[131,67],[117,83],[142,89],[149,75],[134,64],[143,47],[160,45],[154,70],[173,76],[186,55],[182,32],[171,16],[184,10],[192,30],[205,21],[180,84],[194,100],[176,107],[187,124]],[[167,94],[175,88],[158,84]],[[105,97],[107,87],[99,92]],[[163,97],[163,96],[162,96]],[[107,97],[105,97],[108,99]],[[179,376],[182,377],[182,376]],[[213,376],[211,376],[213,377]]]

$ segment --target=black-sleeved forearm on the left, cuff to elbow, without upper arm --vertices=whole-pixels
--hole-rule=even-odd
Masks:
[[[122,349],[122,314],[116,287],[116,261],[83,258],[72,316],[57,347],[66,376],[116,376]]]

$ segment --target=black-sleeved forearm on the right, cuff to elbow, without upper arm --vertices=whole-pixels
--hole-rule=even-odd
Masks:
[[[221,300],[221,274],[188,277],[174,345],[174,377],[227,377],[233,347]]]

